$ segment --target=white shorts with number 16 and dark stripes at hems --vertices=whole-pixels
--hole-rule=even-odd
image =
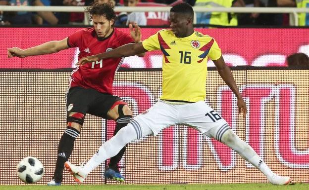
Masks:
[[[221,140],[224,132],[230,129],[227,122],[204,101],[191,104],[169,104],[159,100],[149,110],[133,119],[137,137],[157,135],[171,125],[186,125],[199,130],[210,138]],[[211,130],[210,130],[211,129]]]

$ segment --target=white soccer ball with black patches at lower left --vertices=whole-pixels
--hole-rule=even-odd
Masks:
[[[44,175],[44,166],[35,157],[25,157],[17,164],[17,175],[27,184],[38,182]]]

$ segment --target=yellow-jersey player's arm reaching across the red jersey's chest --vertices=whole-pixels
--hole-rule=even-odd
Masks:
[[[97,55],[92,55],[88,57],[84,57],[80,59],[77,63],[77,65],[84,65],[88,62],[98,61],[101,59],[108,59],[108,58],[117,58],[117,57],[129,57],[133,55],[138,55],[147,52],[146,49],[143,47],[143,43],[129,43],[122,45],[120,47],[117,47],[111,51],[107,51],[104,53],[100,53]]]

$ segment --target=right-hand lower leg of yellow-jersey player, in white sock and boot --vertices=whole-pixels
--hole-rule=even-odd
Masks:
[[[223,132],[223,130],[221,132]],[[220,129],[217,131],[217,133],[220,133]],[[254,165],[267,177],[271,184],[287,185],[291,183],[290,177],[278,176],[277,174],[273,173],[266,165],[266,163],[252,149],[252,147],[248,143],[241,140],[231,129],[226,130],[224,134],[221,134],[220,136],[221,138],[217,140],[221,140],[222,143],[236,151],[242,158]]]

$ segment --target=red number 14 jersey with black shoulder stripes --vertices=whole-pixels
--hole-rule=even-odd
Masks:
[[[134,39],[130,35],[115,28],[112,34],[103,40],[97,38],[96,30],[93,27],[82,29],[68,37],[68,45],[79,48],[78,60],[132,42]],[[92,88],[99,92],[112,94],[114,75],[122,60],[123,58],[110,58],[77,67],[72,72],[69,85],[70,87]]]

